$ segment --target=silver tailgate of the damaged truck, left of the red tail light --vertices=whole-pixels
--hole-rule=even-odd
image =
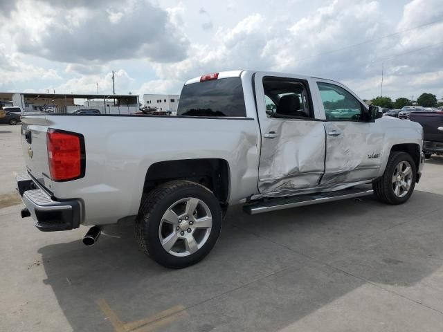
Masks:
[[[53,183],[49,173],[46,132],[46,116],[22,116],[21,147],[26,162],[26,169],[35,180],[52,191]]]

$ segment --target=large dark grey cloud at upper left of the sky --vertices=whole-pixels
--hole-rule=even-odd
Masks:
[[[20,9],[4,28],[21,53],[58,62],[186,57],[188,39],[179,27],[177,8],[166,11],[144,0],[80,5],[62,10],[43,0],[19,0]]]

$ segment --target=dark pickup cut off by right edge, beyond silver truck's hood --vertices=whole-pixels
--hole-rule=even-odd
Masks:
[[[410,120],[422,124],[424,133],[423,152],[426,158],[443,154],[443,112],[430,111],[410,113]]]

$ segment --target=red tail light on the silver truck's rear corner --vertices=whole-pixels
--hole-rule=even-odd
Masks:
[[[80,133],[48,129],[49,172],[53,181],[70,181],[84,176],[86,159]]]

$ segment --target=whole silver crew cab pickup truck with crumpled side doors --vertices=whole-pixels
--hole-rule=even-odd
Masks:
[[[262,71],[189,80],[177,116],[24,116],[21,214],[42,231],[91,225],[89,245],[134,219],[142,250],[183,268],[213,248],[229,205],[257,214],[372,192],[406,202],[422,127],[381,116],[338,82]]]

